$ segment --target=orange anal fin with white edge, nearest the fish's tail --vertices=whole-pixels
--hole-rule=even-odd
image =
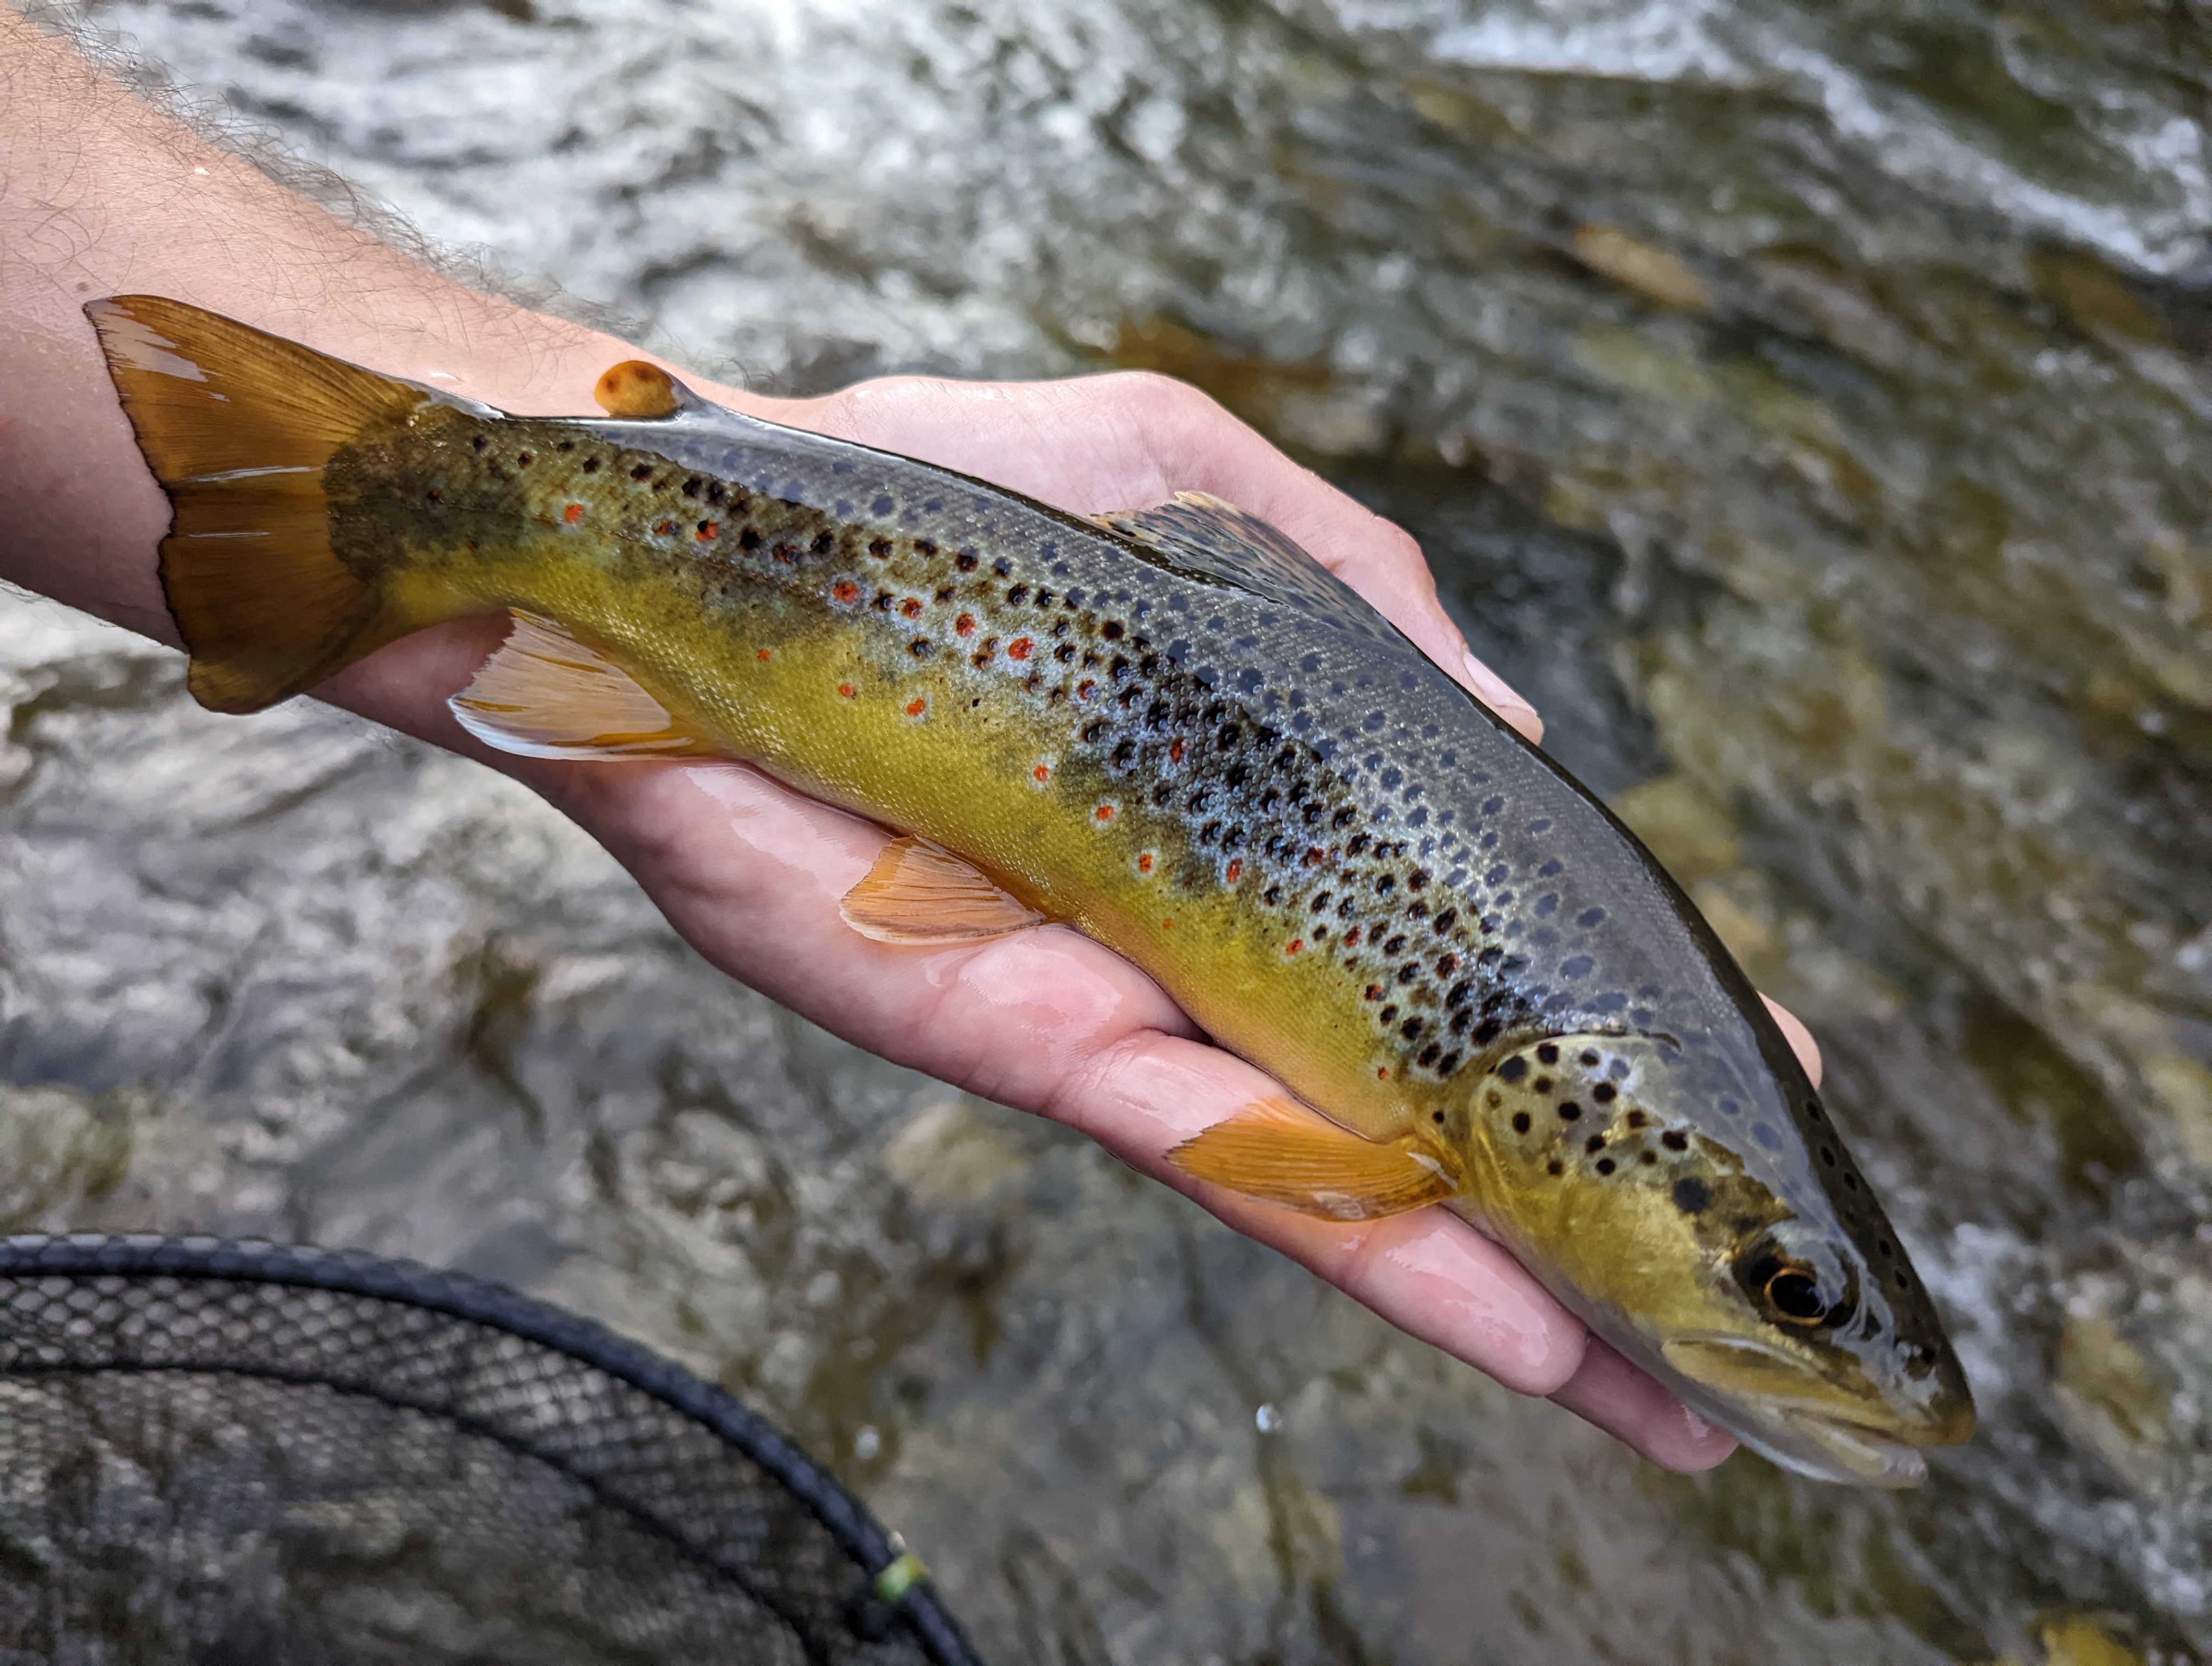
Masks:
[[[484,746],[524,757],[728,757],[622,666],[535,613],[515,613],[507,642],[447,706]]]

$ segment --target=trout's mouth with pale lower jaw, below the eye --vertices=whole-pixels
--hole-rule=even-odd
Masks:
[[[1918,1487],[1929,1474],[1922,1447],[1962,1438],[1949,1427],[1880,1425],[1838,1412],[1805,1392],[1803,1363],[1745,1336],[1677,1336],[1661,1354],[1697,1389],[1690,1398],[1701,1414],[1752,1451],[1812,1480]]]

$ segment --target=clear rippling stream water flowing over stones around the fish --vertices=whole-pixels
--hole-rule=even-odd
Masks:
[[[703,367],[1159,367],[1398,516],[1820,1035],[1984,1431],[1907,1496],[1663,1476],[730,987],[487,772],[24,602],[0,1224],[599,1314],[1009,1664],[2212,1646],[2201,0],[95,18]]]

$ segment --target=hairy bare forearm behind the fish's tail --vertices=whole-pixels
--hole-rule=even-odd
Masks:
[[[0,2],[0,577],[170,644],[168,502],[82,312],[126,292],[520,412],[633,356],[343,223]]]

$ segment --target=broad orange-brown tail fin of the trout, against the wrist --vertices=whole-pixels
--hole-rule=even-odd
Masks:
[[[332,551],[323,471],[438,396],[181,301],[117,294],[84,312],[168,491],[161,591],[192,697],[257,712],[400,635],[378,586]]]

